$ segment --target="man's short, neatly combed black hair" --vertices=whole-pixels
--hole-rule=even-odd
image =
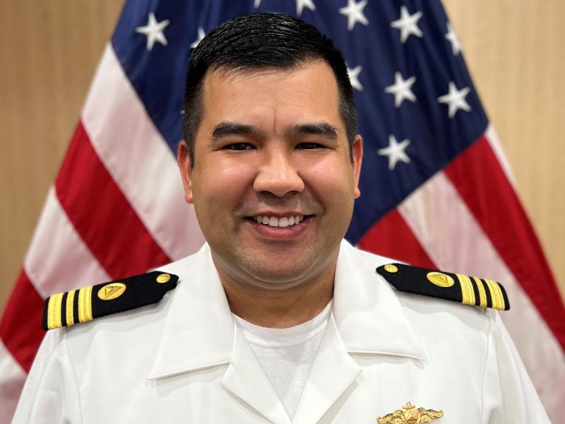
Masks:
[[[184,86],[182,131],[194,166],[194,142],[203,114],[202,88],[208,71],[295,69],[321,59],[338,82],[339,113],[350,157],[357,136],[357,108],[342,52],[316,27],[283,13],[250,13],[218,25],[192,52]]]

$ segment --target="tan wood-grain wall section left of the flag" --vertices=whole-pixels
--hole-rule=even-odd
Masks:
[[[0,311],[121,1],[0,1]]]

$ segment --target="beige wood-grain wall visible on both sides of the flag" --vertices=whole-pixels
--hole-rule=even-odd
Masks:
[[[445,4],[565,293],[565,2]],[[0,2],[0,310],[120,8],[118,0]]]

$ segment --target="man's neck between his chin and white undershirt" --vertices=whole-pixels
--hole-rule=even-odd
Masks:
[[[258,326],[283,329],[316,317],[333,298],[337,257],[326,272],[290,288],[273,290],[231,278],[216,265],[230,309]]]

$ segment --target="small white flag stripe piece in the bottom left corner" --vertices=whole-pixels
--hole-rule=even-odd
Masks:
[[[10,423],[27,374],[0,339],[0,423]]]

